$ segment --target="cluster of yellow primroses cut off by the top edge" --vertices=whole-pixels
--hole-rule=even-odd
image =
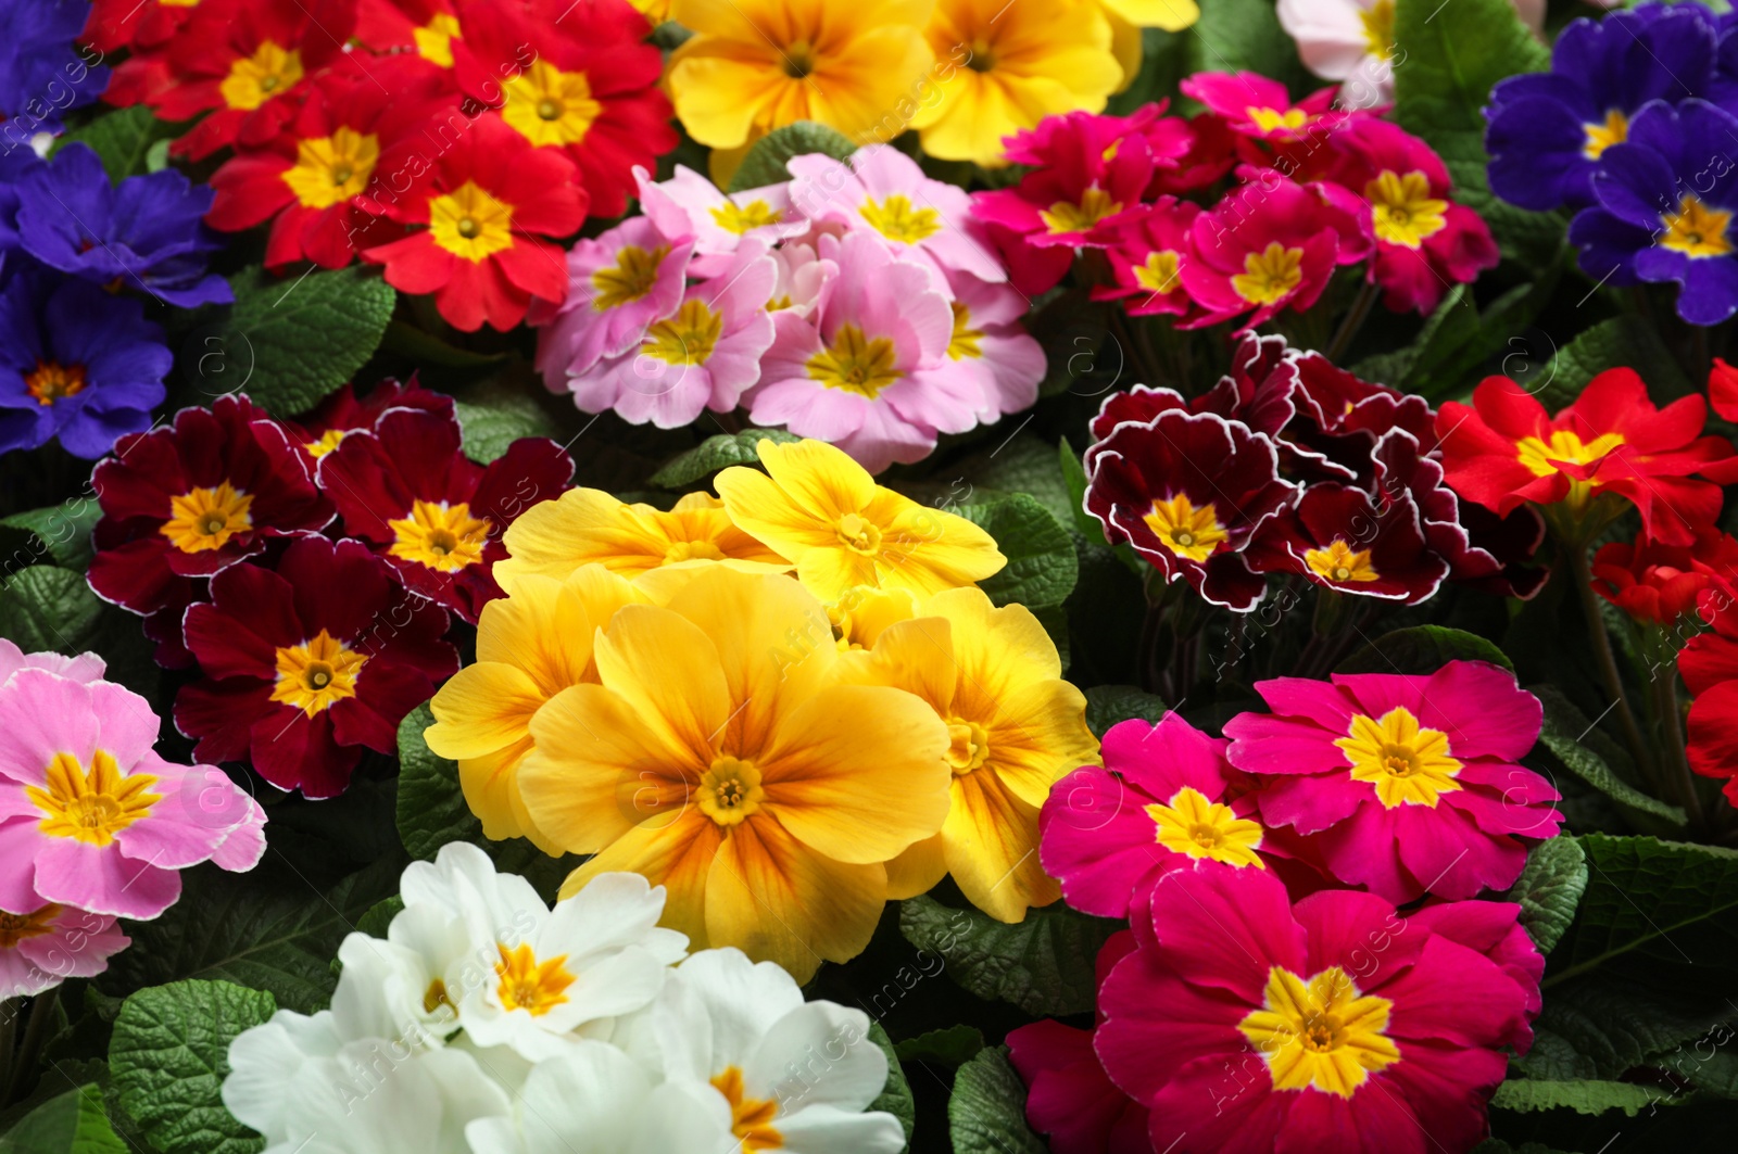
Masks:
[[[817,120],[859,144],[905,129],[942,160],[1001,163],[1045,116],[1104,111],[1140,71],[1140,30],[1196,0],[671,0],[693,30],[669,61],[688,134],[728,179],[761,136]]]

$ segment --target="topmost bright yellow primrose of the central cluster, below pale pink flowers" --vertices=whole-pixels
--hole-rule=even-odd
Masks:
[[[803,586],[824,601],[839,600],[852,586],[928,596],[970,586],[1008,563],[982,528],[876,485],[833,445],[761,441],[756,448],[766,473],[739,466],[718,474],[725,511],[796,563]]]

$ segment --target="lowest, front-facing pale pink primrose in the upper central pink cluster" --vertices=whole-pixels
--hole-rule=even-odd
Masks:
[[[751,419],[831,441],[871,473],[921,461],[937,429],[972,428],[982,396],[970,377],[916,375],[940,365],[952,334],[930,269],[897,259],[872,233],[824,236],[820,255],[839,271],[808,320],[773,316],[760,384],[742,398]]]

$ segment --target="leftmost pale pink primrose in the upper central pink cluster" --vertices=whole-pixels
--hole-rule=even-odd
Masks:
[[[647,328],[673,315],[688,283],[692,240],[666,236],[647,217],[631,217],[567,254],[568,290],[560,306],[530,313],[542,325],[537,368],[561,393],[605,356],[640,344]]]

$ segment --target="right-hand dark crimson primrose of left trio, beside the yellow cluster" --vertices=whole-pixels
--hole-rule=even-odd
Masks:
[[[574,459],[527,436],[492,464],[466,459],[452,412],[393,408],[372,431],[320,459],[320,488],[408,589],[476,620],[501,596],[492,575],[507,556],[501,534],[528,507],[561,495]]]

